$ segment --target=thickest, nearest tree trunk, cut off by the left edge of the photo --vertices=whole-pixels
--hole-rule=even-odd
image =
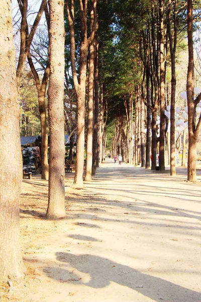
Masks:
[[[22,183],[19,103],[13,44],[11,1],[0,6],[0,278],[20,277],[25,269],[20,251],[19,204]]]

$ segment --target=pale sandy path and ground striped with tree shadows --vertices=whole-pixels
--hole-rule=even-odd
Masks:
[[[167,168],[168,169],[168,168]],[[25,278],[0,301],[200,302],[201,170],[198,182],[106,162],[85,189],[66,174],[66,217],[47,220],[47,181],[23,181]]]

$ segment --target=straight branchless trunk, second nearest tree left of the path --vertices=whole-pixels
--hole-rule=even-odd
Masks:
[[[49,0],[50,83],[48,114],[50,126],[48,218],[65,216],[64,186],[64,21],[63,1]],[[56,43],[55,43],[56,41]]]

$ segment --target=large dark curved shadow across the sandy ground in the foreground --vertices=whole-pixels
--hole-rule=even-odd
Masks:
[[[92,288],[104,288],[111,282],[127,286],[152,300],[161,302],[200,302],[201,293],[185,288],[159,277],[142,273],[128,265],[122,265],[94,255],[73,255],[56,253],[60,267],[45,267],[45,273],[58,281],[75,281],[77,286],[84,284]],[[63,263],[63,268],[61,267]],[[66,267],[66,265],[68,267]],[[69,265],[71,271],[69,271]],[[81,281],[79,272],[89,275],[89,281]]]

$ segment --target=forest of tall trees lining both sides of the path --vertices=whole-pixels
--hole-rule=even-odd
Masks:
[[[110,155],[176,175],[201,160],[200,0],[5,0],[0,8],[0,276],[21,276],[20,136],[40,136],[47,219]],[[65,148],[65,135],[69,137]],[[158,158],[158,161],[157,161]],[[84,175],[84,177],[83,177]],[[12,244],[11,244],[12,242]]]

